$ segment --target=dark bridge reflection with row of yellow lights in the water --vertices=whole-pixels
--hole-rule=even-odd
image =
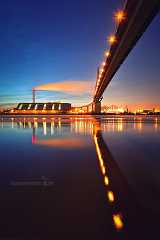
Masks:
[[[151,239],[157,236],[159,218],[150,209],[141,206],[127,179],[113,158],[97,121],[93,137],[99,160],[100,172],[106,192],[106,203],[110,205],[112,223],[123,239]],[[137,236],[137,233],[139,234]]]

